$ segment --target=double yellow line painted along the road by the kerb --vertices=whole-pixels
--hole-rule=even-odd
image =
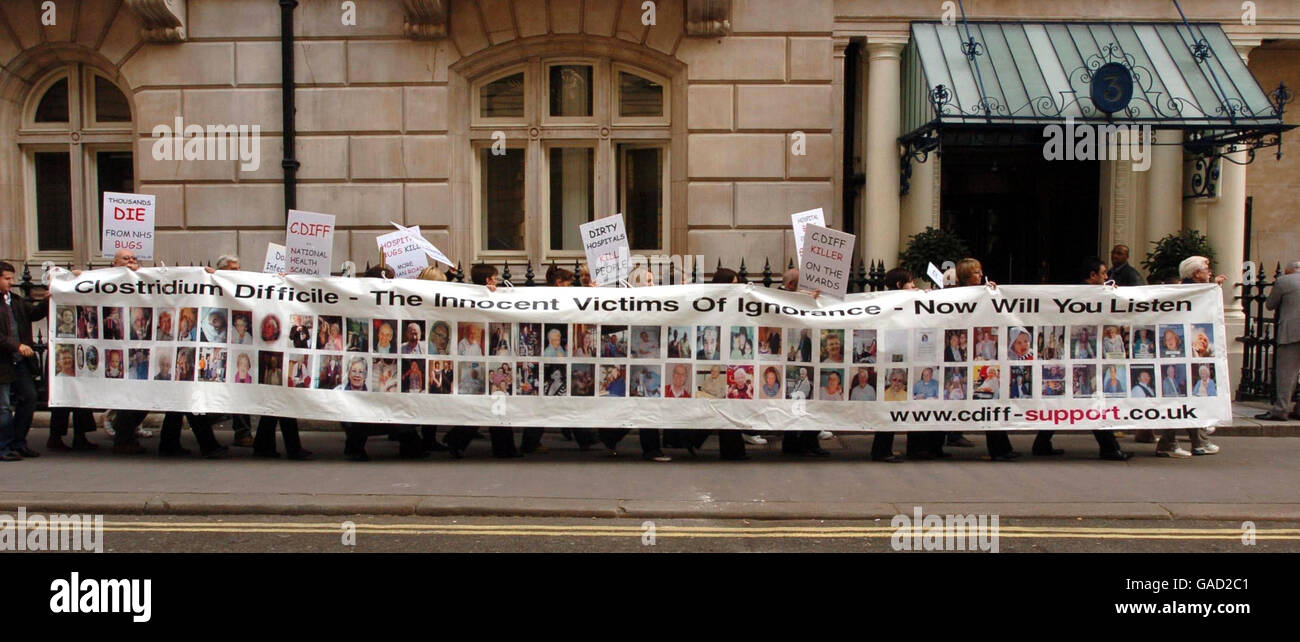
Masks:
[[[654,520],[642,520],[654,521]],[[368,535],[464,535],[464,537],[641,537],[649,529],[641,522],[619,524],[373,524],[352,522],[356,534]],[[655,524],[656,538],[723,539],[858,539],[890,538],[893,526],[685,526]],[[919,535],[970,535],[959,529],[918,529]],[[332,534],[339,535],[342,521],[105,521],[105,533],[229,533],[229,534]],[[909,533],[910,535],[911,533]],[[1193,528],[1112,528],[1112,526],[1000,526],[998,537],[1013,539],[1231,539],[1240,541],[1242,529]],[[1300,541],[1300,529],[1256,529],[1254,539]]]

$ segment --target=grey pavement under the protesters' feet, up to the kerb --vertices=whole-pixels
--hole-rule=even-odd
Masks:
[[[228,430],[217,435],[231,439]],[[46,437],[36,429],[29,441],[42,448]],[[368,463],[346,460],[338,433],[303,439],[317,460],[231,448],[230,459],[212,461],[101,450],[3,463],[0,512],[875,520],[922,506],[1004,519],[1300,521],[1300,439],[1222,430],[1214,435],[1222,452],[1188,460],[1156,457],[1152,444],[1123,438],[1138,454],[1127,463],[1098,460],[1087,433],[1058,434],[1061,457],[1028,456],[1032,434],[1018,433],[1011,439],[1026,456],[1017,463],[991,463],[976,447],[904,464],[870,461],[870,435],[823,442],[829,459],[785,456],[771,439],[750,446],[744,463],[719,461],[716,439],[699,459],[670,451],[671,463],[642,461],[634,435],[620,457],[606,457],[549,433],[549,454],[515,460],[493,459],[486,441],[463,460],[403,460],[395,442],[370,438]],[[101,433],[98,441],[107,442]],[[156,441],[144,443],[155,450]],[[905,443],[900,437],[896,450]],[[188,433],[185,444],[195,448]]]

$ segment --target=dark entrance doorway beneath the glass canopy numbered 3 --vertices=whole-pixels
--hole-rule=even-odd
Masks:
[[[1097,161],[1048,161],[1040,133],[944,135],[941,225],[1000,283],[1074,283],[1097,253]]]

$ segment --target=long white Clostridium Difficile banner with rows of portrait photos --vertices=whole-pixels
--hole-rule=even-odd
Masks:
[[[51,405],[337,421],[785,430],[1231,418],[1216,286],[848,295],[61,272]],[[130,318],[100,327],[98,320]],[[121,330],[126,327],[126,330]],[[109,335],[112,334],[112,335]]]

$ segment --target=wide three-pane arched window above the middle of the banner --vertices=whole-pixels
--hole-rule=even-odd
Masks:
[[[471,86],[477,253],[582,256],[578,225],[623,213],[668,246],[667,79],[602,58],[533,58]]]

